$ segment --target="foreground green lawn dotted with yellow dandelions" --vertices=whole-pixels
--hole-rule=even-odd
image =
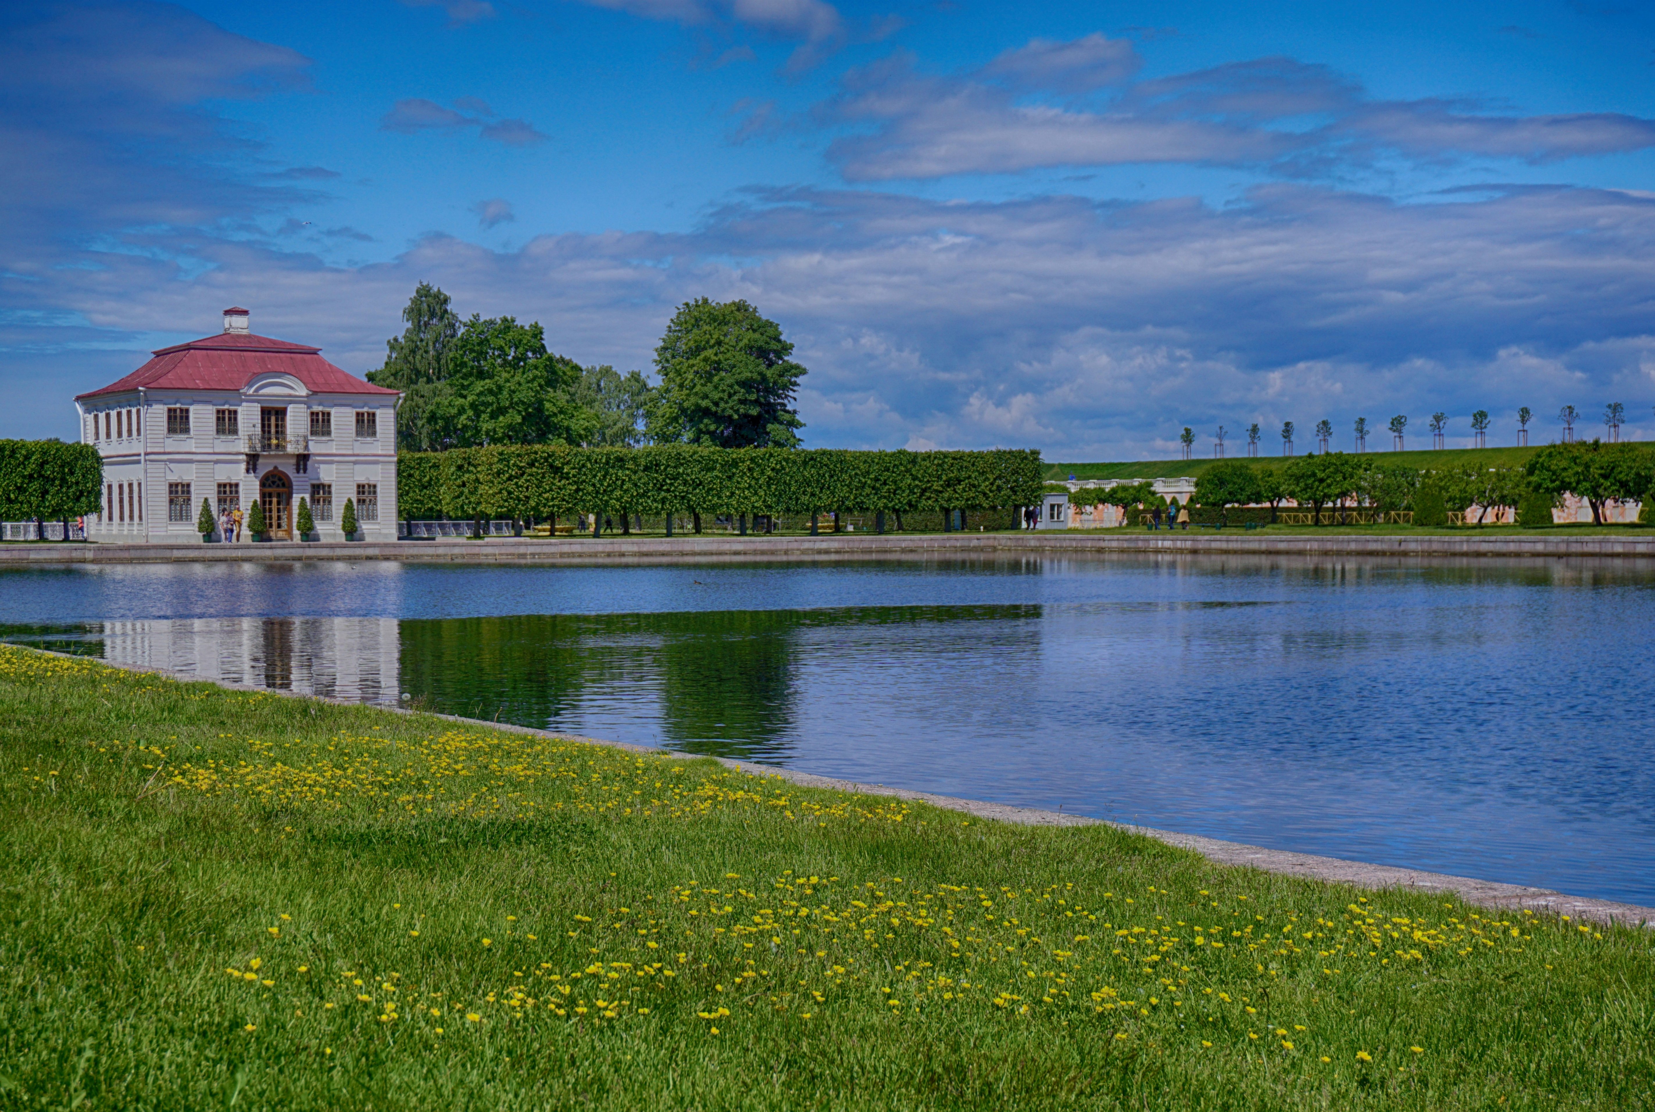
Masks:
[[[12,647],[0,738],[5,1107],[1655,1092],[1630,928]]]

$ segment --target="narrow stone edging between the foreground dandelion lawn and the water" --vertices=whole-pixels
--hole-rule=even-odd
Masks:
[[[13,647],[25,647],[25,645],[13,645]],[[88,659],[88,657],[71,657],[68,654],[48,652],[45,649],[30,649],[30,652],[40,652],[50,657],[63,657],[68,660]],[[237,692],[260,692],[265,695],[285,695],[290,698],[311,698],[323,703],[334,703],[338,707],[366,705],[366,703],[353,703],[343,698],[328,698],[323,695],[303,695],[300,692],[285,692],[280,688],[257,687],[253,683],[228,683],[223,680],[205,680],[189,672],[174,672],[169,669],[151,669],[134,664],[111,664],[108,660],[99,660],[99,664],[111,669],[121,669],[122,672],[161,675],[170,680],[179,680],[182,683],[213,683],[217,687]],[[533,726],[518,726],[515,723],[506,723],[506,721],[462,718],[458,715],[439,715],[425,710],[410,710],[405,707],[381,707],[376,703],[372,703],[371,707],[374,707],[376,710],[387,710],[399,715],[424,715],[427,718],[440,718],[444,721],[455,721],[465,726],[483,726],[488,730],[505,730],[508,733],[528,733],[538,738],[553,738],[558,741],[579,741],[583,745],[602,745],[612,750],[626,750],[627,753],[649,753],[652,756],[670,756],[679,760],[700,758],[700,755],[697,753],[679,753],[674,750],[657,750],[645,745],[631,745],[627,741],[606,741],[604,738],[588,738],[576,733],[535,730]],[[869,784],[854,779],[834,779],[831,776],[816,776],[814,773],[801,773],[791,768],[776,768],[771,764],[755,764],[751,761],[738,761],[727,756],[715,756],[712,760],[718,761],[725,768],[732,768],[753,776],[775,776],[780,779],[786,779],[788,783],[798,784],[801,788],[828,788],[832,791],[852,791],[866,796],[890,796],[895,799],[914,799],[917,803],[928,803],[945,811],[962,811],[973,817],[991,819],[995,822],[1016,822],[1019,826],[1112,826],[1117,831],[1125,831],[1127,834],[1139,834],[1142,837],[1152,837],[1158,842],[1165,842],[1167,846],[1177,846],[1178,849],[1193,851],[1206,857],[1208,860],[1218,862],[1221,865],[1258,869],[1261,872],[1276,872],[1289,877],[1302,877],[1307,880],[1324,880],[1327,884],[1346,884],[1355,889],[1370,889],[1370,890],[1412,889],[1418,892],[1443,892],[1443,894],[1453,894],[1466,903],[1494,910],[1531,908],[1551,915],[1567,915],[1574,920],[1655,928],[1655,907],[1638,907],[1635,903],[1615,903],[1612,900],[1594,900],[1579,895],[1564,895],[1562,892],[1552,892],[1551,889],[1533,889],[1521,884],[1501,884],[1498,880],[1476,880],[1473,877],[1455,877],[1443,872],[1422,872],[1418,869],[1398,869],[1395,865],[1372,865],[1360,860],[1344,860],[1342,857],[1317,857],[1314,854],[1294,854],[1284,849],[1266,849],[1263,846],[1246,846],[1243,842],[1225,842],[1215,837],[1202,837],[1200,834],[1178,834],[1175,831],[1157,831],[1147,826],[1111,822],[1107,819],[1092,819],[1081,814],[1039,811],[1036,808],[1015,808],[1005,803],[960,799],[957,796],[937,796],[928,791],[910,791],[907,788],[890,788],[889,784]]]

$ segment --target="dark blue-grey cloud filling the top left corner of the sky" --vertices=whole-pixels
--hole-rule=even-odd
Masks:
[[[159,3],[0,5],[0,270],[65,237],[250,222],[326,172],[270,174],[222,103],[301,91],[309,60]]]

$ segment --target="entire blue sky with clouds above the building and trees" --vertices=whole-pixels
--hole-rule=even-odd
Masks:
[[[746,298],[814,447],[1655,439],[1647,7],[31,3],[0,104],[0,435],[230,303],[369,371],[434,281],[645,371]]]

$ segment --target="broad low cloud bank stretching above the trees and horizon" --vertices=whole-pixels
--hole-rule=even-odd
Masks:
[[[1183,425],[1225,424],[1235,443],[1253,420],[1329,417],[1344,435],[1355,415],[1595,412],[1615,391],[1643,412],[1652,248],[1655,200],[1587,189],[1405,205],[1274,185],[1225,208],[775,190],[690,233],[543,235],[511,252],[430,237],[369,266],[217,242],[189,280],[122,253],[7,293],[113,336],[207,328],[243,298],[268,334],[354,371],[377,366],[419,281],[462,311],[540,319],[556,349],[614,366],[649,366],[684,300],[740,296],[811,367],[809,443],[1132,458]]]

